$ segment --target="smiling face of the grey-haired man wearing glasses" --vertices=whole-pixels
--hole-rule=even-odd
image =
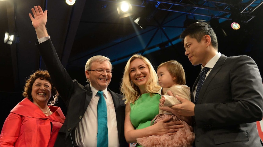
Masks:
[[[91,70],[95,69],[104,69],[104,70],[111,70],[111,65],[109,61],[93,62],[91,63]],[[107,75],[106,71],[103,74],[97,71],[85,71],[86,78],[89,79],[90,84],[97,90],[103,91],[108,87],[111,81],[111,73]]]

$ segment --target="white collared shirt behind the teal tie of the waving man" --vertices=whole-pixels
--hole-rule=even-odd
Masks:
[[[92,99],[88,105],[87,110],[84,113],[83,118],[78,123],[75,129],[75,142],[80,147],[96,147],[97,146],[97,132],[98,132],[98,114],[97,105],[99,102],[99,96],[96,95],[96,90],[90,85],[92,91]],[[106,96],[107,95],[107,96]],[[107,89],[103,90],[103,96],[107,105],[107,117],[108,117],[108,137],[110,147],[119,147],[119,138],[117,130],[117,119],[113,99],[110,92]]]

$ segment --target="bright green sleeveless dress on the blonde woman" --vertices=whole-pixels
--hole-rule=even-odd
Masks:
[[[136,129],[149,127],[153,118],[159,113],[160,94],[142,94],[134,104],[130,104],[130,119]],[[136,146],[139,146],[137,143]]]

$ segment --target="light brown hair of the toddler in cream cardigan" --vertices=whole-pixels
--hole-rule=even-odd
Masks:
[[[176,84],[186,85],[186,75],[182,64],[180,64],[178,61],[170,60],[160,64],[157,68],[157,71],[162,66],[166,67],[168,72],[172,76],[176,77],[175,79]]]

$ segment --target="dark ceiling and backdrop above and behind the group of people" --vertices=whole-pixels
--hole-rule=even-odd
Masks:
[[[196,74],[191,74],[200,67],[190,64],[178,39],[187,17],[206,22],[217,18],[220,24],[211,22],[211,26],[218,34],[219,52],[228,56],[250,55],[263,70],[262,0],[132,0],[133,12],[139,15],[145,6],[158,5],[156,13],[147,14],[151,19],[145,29],[132,21],[133,15],[119,18],[117,2],[76,0],[74,6],[69,6],[64,0],[0,0],[0,91],[21,93],[25,79],[37,69],[45,69],[34,45],[37,37],[28,16],[34,5],[48,10],[46,28],[61,62],[71,77],[84,85],[87,59],[104,55],[114,67],[111,89],[118,90],[125,62],[134,53],[147,56],[155,66],[178,60],[184,65],[188,81],[193,82]],[[234,19],[240,21],[240,30],[230,28]],[[5,31],[17,37],[12,45],[4,44]]]

